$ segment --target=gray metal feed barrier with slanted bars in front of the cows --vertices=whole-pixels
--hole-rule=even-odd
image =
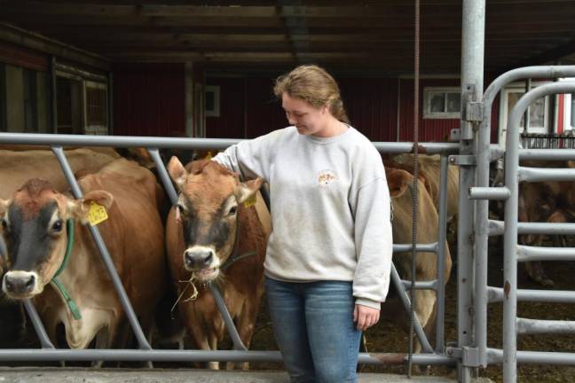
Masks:
[[[75,176],[69,167],[63,146],[109,146],[109,147],[146,147],[147,151],[154,159],[159,177],[172,205],[177,205],[177,193],[171,184],[168,172],[161,162],[160,148],[177,149],[224,149],[225,147],[237,143],[237,140],[229,139],[207,139],[207,138],[164,138],[164,137],[94,137],[94,136],[72,136],[72,135],[41,135],[41,134],[16,134],[1,133],[0,145],[50,145],[52,152],[57,156],[60,166],[64,171],[72,192],[76,199],[82,198]],[[380,152],[402,153],[411,152],[413,145],[410,143],[374,143]],[[437,242],[430,244],[418,244],[417,252],[432,252],[437,254],[437,279],[433,281],[417,282],[416,289],[430,289],[437,292],[437,328],[436,344],[432,346],[427,340],[419,321],[416,321],[414,331],[421,342],[422,353],[413,357],[413,362],[422,365],[428,364],[455,364],[453,356],[446,356],[444,317],[445,317],[445,280],[444,280],[444,259],[445,259],[445,237],[446,237],[446,187],[447,183],[447,155],[457,151],[456,144],[423,144],[429,154],[441,154],[441,193],[440,212]],[[25,301],[28,316],[34,325],[35,332],[39,337],[41,349],[2,349],[0,350],[0,361],[157,361],[157,362],[279,362],[281,361],[278,351],[248,351],[241,343],[232,318],[225,308],[221,294],[215,285],[210,285],[210,291],[216,298],[218,309],[224,317],[224,323],[233,341],[233,350],[201,351],[201,350],[157,350],[153,349],[144,336],[138,319],[131,308],[130,301],[123,289],[122,282],[118,277],[110,255],[106,250],[106,244],[101,238],[98,228],[91,227],[91,234],[98,245],[98,250],[102,260],[106,265],[106,270],[114,281],[114,287],[122,301],[122,307],[130,321],[130,325],[138,340],[138,349],[84,349],[71,350],[55,348],[48,339],[43,328],[43,324],[38,317],[33,305]],[[393,246],[395,252],[410,252],[411,244],[396,244]],[[399,292],[399,297],[407,310],[410,309],[409,294],[407,290],[412,288],[410,281],[401,280],[395,267],[391,270],[391,281]],[[404,363],[406,354],[392,353],[362,353],[359,356],[359,363]]]

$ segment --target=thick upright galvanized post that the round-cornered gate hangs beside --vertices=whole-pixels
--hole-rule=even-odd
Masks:
[[[473,155],[474,129],[467,121],[465,111],[468,101],[481,100],[484,73],[485,0],[463,0],[461,28],[461,155]],[[477,132],[476,132],[477,133]],[[475,135],[477,136],[477,134]],[[477,141],[477,140],[476,140]],[[473,341],[473,286],[474,202],[467,198],[469,187],[475,184],[476,170],[460,168],[459,223],[457,231],[457,285],[458,348],[467,348]],[[461,219],[461,217],[463,217]],[[473,375],[469,366],[458,364],[459,381],[468,383]]]

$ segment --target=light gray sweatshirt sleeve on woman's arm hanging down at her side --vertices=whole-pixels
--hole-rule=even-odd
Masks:
[[[393,240],[390,191],[385,173],[362,185],[355,207],[355,243],[358,266],[353,278],[356,303],[380,309],[390,288]]]

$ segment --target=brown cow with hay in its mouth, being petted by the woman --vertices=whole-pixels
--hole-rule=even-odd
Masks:
[[[184,168],[172,157],[168,170],[179,190],[178,205],[170,211],[166,229],[169,267],[180,295],[179,316],[197,348],[217,349],[224,322],[206,286],[216,283],[249,348],[264,293],[269,231],[256,208],[244,202],[262,180],[242,184],[236,174],[211,160],[193,161]],[[243,256],[250,252],[255,254]],[[189,299],[196,289],[197,297]],[[218,363],[209,366],[217,369]]]

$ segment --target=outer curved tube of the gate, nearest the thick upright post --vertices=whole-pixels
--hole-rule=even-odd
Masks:
[[[483,121],[477,135],[477,187],[489,186],[489,163],[493,160],[493,154],[500,153],[502,148],[493,148],[491,142],[491,123],[493,101],[510,82],[525,78],[558,78],[574,77],[575,66],[527,66],[511,70],[497,77],[487,89],[483,96]],[[518,136],[518,134],[517,134]],[[515,145],[517,150],[517,145]],[[564,159],[571,156],[575,159],[575,152],[567,153],[559,149],[523,149],[519,150],[522,159],[553,160]],[[477,201],[476,210],[476,231],[475,231],[475,265],[476,265],[476,285],[475,285],[475,339],[474,345],[478,348],[479,360],[482,365],[487,363],[487,240],[493,232],[493,224],[489,223],[489,205],[486,200]],[[516,222],[515,222],[516,223]],[[514,224],[515,224],[514,223]],[[526,228],[523,223],[519,223],[520,228]]]

